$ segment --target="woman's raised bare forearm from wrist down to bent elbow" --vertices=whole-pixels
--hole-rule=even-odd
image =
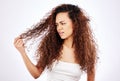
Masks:
[[[34,77],[34,78],[38,78],[40,76],[40,74],[42,73],[42,70],[38,69],[28,58],[28,56],[26,55],[25,52],[21,53],[22,58],[24,60],[24,63],[28,69],[28,71],[30,72],[30,74]]]

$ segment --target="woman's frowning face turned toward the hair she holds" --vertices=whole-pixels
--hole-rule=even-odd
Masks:
[[[57,32],[61,39],[68,39],[72,37],[73,25],[67,12],[58,13],[56,16]]]

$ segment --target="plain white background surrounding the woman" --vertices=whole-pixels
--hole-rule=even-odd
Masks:
[[[46,73],[32,78],[13,41],[61,3],[79,5],[90,16],[99,46],[96,81],[120,81],[119,0],[0,0],[0,81],[45,80]]]

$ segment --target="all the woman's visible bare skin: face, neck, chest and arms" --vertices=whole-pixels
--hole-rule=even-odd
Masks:
[[[65,12],[59,13],[56,16],[56,25],[57,25],[57,31],[60,34],[61,39],[65,39],[64,43],[63,43],[62,56],[59,60],[65,61],[65,62],[77,63],[75,61],[74,48],[72,47],[72,41],[73,41],[73,39],[72,39],[72,33],[73,33],[72,21],[68,17],[68,13],[65,13]],[[20,54],[24,60],[24,63],[26,65],[28,71],[30,72],[30,74],[34,78],[38,78],[41,75],[41,73],[43,72],[43,70],[40,68],[37,68],[36,65],[34,65],[30,61],[30,59],[26,55],[23,40],[20,37],[15,38],[14,46],[20,52]],[[95,71],[93,68],[92,74],[87,72],[87,81],[94,81],[94,77],[95,77]]]

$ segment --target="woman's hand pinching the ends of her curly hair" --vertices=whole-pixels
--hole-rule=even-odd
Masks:
[[[25,46],[24,46],[24,42],[23,40],[19,37],[15,38],[14,40],[14,46],[16,47],[16,49],[20,52],[20,53],[24,53],[25,52]]]

